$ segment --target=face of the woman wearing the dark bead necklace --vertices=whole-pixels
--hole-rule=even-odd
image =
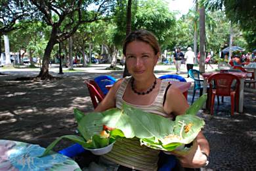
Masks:
[[[125,61],[129,73],[135,79],[146,79],[154,73],[158,54],[154,53],[154,49],[148,43],[133,41],[126,47]]]

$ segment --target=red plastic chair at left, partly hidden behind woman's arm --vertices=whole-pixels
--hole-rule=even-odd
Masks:
[[[95,81],[90,79],[85,79],[85,84],[89,90],[89,94],[91,96],[91,101],[93,102],[93,107],[97,107],[97,105],[103,100],[104,94],[100,87],[95,83]]]

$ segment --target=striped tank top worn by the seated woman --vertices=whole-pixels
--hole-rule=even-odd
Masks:
[[[131,77],[125,77],[116,92],[116,107],[119,109],[121,109],[122,104],[125,102],[123,100],[123,94],[130,80]],[[137,107],[138,109],[142,109],[143,111],[172,119],[171,115],[167,115],[163,111],[163,96],[167,85],[167,81],[161,81],[158,95],[150,105],[133,105],[127,102],[125,103]],[[149,147],[140,145],[138,138],[122,138],[121,140],[116,141],[112,151],[104,155],[104,158],[136,170],[157,170],[159,153],[159,150],[150,149]]]

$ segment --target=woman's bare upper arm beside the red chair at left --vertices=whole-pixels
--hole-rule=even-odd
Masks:
[[[123,79],[119,79],[108,91],[108,94],[104,99],[98,104],[95,111],[106,111],[107,109],[116,107],[116,92]]]

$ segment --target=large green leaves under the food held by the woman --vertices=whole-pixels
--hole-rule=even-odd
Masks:
[[[77,142],[86,148],[97,149],[106,147],[117,138],[137,137],[140,139],[141,145],[172,151],[181,145],[192,142],[203,128],[205,124],[203,119],[195,115],[202,108],[206,99],[207,95],[204,94],[189,107],[186,115],[177,116],[175,121],[147,113],[127,104],[123,104],[122,109],[113,108],[86,115],[78,109],[74,109],[75,119],[78,123],[77,129],[81,137],[62,136],[51,143],[43,155],[47,155],[62,138]],[[108,138],[99,136],[103,125],[114,128],[110,131]]]

